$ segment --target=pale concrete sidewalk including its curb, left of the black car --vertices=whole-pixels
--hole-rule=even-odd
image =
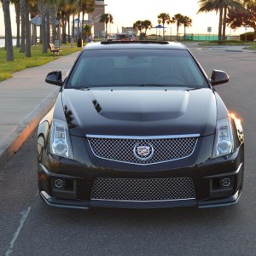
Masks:
[[[0,170],[55,102],[60,87],[46,84],[46,75],[61,70],[65,77],[77,55],[22,70],[14,73],[12,79],[0,82]]]

